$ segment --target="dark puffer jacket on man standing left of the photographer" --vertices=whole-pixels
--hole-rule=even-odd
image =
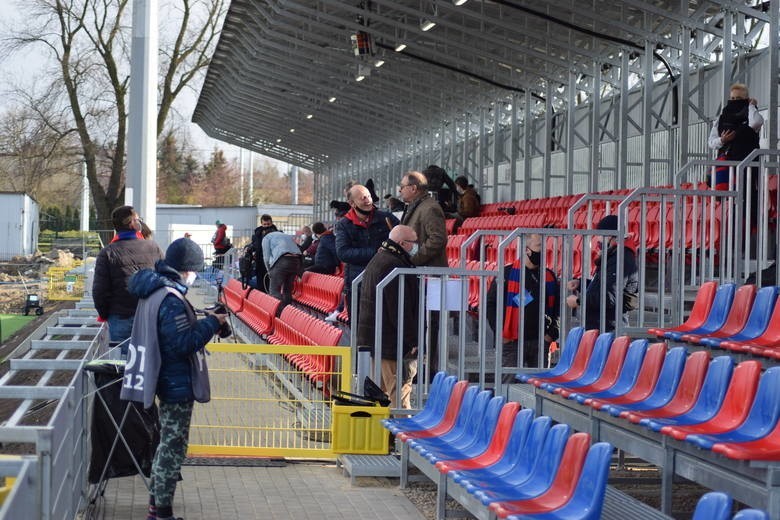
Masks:
[[[128,278],[141,269],[152,269],[155,262],[163,259],[160,246],[153,240],[140,240],[135,231],[123,231],[117,236],[119,240],[104,247],[95,260],[92,299],[103,319],[134,316],[138,298],[127,290]]]

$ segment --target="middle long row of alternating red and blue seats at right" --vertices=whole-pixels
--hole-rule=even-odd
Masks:
[[[575,328],[558,365],[517,379],[731,459],[780,460],[780,367]]]

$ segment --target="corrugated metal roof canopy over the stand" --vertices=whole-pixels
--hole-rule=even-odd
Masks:
[[[734,20],[739,51],[770,21],[769,2],[458,3],[232,0],[193,122],[217,139],[318,169],[517,93],[560,105],[572,88],[582,100],[605,85],[620,88],[618,74],[593,81],[594,66],[627,63],[642,81],[647,49],[655,49],[654,72],[679,74],[681,60],[696,70],[722,46],[725,23]],[[435,27],[423,30],[426,21]],[[351,37],[359,32],[371,52],[357,56]]]

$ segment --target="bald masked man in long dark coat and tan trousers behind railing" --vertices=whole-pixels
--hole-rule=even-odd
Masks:
[[[395,226],[382,242],[379,251],[366,266],[360,289],[360,314],[357,325],[357,344],[374,346],[376,332],[376,286],[396,267],[414,267],[412,257],[419,250],[417,233],[409,226]],[[398,408],[396,388],[398,374],[398,335],[402,335],[404,367],[400,374],[400,407],[411,408],[412,380],[417,374],[417,277],[404,276],[403,316],[399,311],[399,278],[389,283],[382,292],[382,391],[390,398],[390,407]],[[412,295],[413,297],[410,297]],[[403,324],[401,318],[403,317]],[[372,353],[374,351],[372,350]],[[373,354],[372,354],[373,355]]]

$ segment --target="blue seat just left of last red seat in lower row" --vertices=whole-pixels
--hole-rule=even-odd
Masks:
[[[505,500],[522,500],[541,495],[555,480],[571,428],[556,424],[544,440],[542,451],[528,477],[522,482],[492,482],[489,487],[471,492],[484,505]]]

